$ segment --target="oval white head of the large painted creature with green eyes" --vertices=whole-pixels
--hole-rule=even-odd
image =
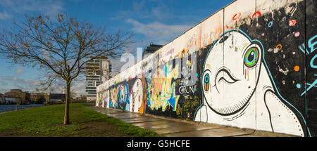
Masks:
[[[211,110],[230,115],[247,105],[259,79],[261,52],[258,44],[235,30],[213,44],[201,77],[204,99]]]

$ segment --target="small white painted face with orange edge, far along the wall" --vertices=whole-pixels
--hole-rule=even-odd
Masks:
[[[141,79],[137,79],[135,84],[132,86],[131,96],[132,102],[130,102],[130,111],[138,112],[139,108],[142,106],[143,98],[143,84]]]

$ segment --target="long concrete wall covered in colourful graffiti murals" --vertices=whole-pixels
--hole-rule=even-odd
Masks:
[[[233,1],[99,86],[96,105],[316,136],[316,3]]]

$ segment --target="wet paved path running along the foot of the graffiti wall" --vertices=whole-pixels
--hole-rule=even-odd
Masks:
[[[142,129],[155,131],[166,137],[261,137],[254,131],[233,129],[225,126],[200,124],[198,122],[185,122],[176,119],[153,117],[147,114],[123,112],[121,110],[104,109],[101,107],[89,107],[97,112],[107,114],[110,117],[120,119],[123,122],[139,126]]]

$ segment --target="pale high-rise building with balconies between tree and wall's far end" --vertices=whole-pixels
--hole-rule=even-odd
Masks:
[[[89,60],[86,64],[86,93],[87,101],[95,101],[97,86],[109,79],[111,65],[108,58]]]

